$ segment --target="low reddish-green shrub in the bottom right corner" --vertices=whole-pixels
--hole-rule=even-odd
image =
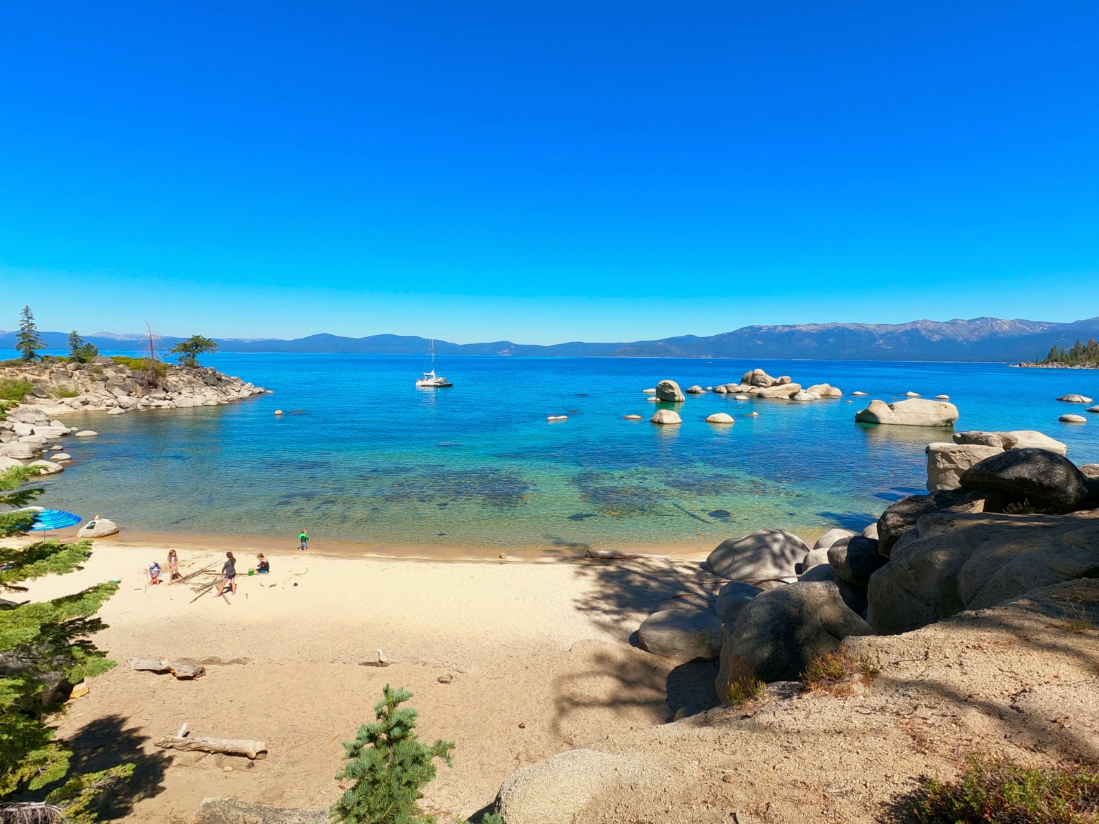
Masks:
[[[919,824],[1096,824],[1099,773],[1078,765],[1026,768],[980,755],[954,781],[923,778],[896,805]]]

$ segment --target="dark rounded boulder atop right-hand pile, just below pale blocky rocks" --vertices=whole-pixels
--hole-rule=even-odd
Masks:
[[[1055,513],[1083,509],[1090,493],[1084,474],[1047,449],[1011,449],[986,458],[963,472],[961,483],[963,489],[999,492]]]

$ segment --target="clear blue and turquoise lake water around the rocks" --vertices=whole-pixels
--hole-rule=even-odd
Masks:
[[[854,422],[872,398],[951,396],[958,430],[1033,428],[1099,461],[1099,415],[1058,423],[1099,372],[995,364],[837,360],[452,357],[451,389],[413,386],[423,358],[232,355],[206,363],[274,390],[234,404],[71,425],[70,468],[47,505],[102,513],[142,532],[419,546],[704,549],[764,526],[862,528],[921,492],[923,447],[948,433]],[[753,367],[845,397],[813,403],[677,404],[681,426],[648,423],[642,390],[736,381]],[[851,398],[862,390],[869,398]],[[848,402],[853,401],[853,402]],[[664,405],[664,404],[660,404]],[[670,404],[668,404],[670,405]],[[273,413],[282,409],[285,414]],[[757,411],[758,417],[746,413]],[[704,422],[728,412],[733,426]],[[642,421],[625,421],[636,413]],[[547,423],[551,414],[567,421]]]

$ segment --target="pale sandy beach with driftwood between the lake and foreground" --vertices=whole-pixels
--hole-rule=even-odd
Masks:
[[[662,601],[701,586],[697,563],[501,563],[271,555],[248,577],[237,554],[235,595],[191,602],[190,582],[151,587],[145,568],[164,550],[96,544],[87,567],[32,582],[53,598],[119,578],[96,643],[120,666],[70,703],[62,737],[98,769],[135,760],[114,814],[190,820],[201,799],[229,795],[282,806],[328,806],[341,742],[373,721],[386,682],[411,689],[421,736],[456,743],[425,808],[466,816],[528,761],[615,731],[664,722],[712,700],[712,665],[673,664],[629,645]],[[223,553],[180,549],[182,571]],[[685,584],[684,581],[690,581]],[[396,662],[376,660],[376,649]],[[222,661],[207,675],[131,671],[129,656]],[[670,673],[670,675],[669,675]],[[452,676],[451,683],[440,678]],[[665,697],[670,697],[665,701]],[[670,706],[669,706],[670,704]],[[260,738],[265,760],[174,753],[153,742],[187,722],[193,735]]]

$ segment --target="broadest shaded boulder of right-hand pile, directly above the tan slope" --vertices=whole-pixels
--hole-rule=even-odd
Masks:
[[[1097,567],[1099,517],[935,512],[870,577],[867,619],[882,634],[909,632]]]

